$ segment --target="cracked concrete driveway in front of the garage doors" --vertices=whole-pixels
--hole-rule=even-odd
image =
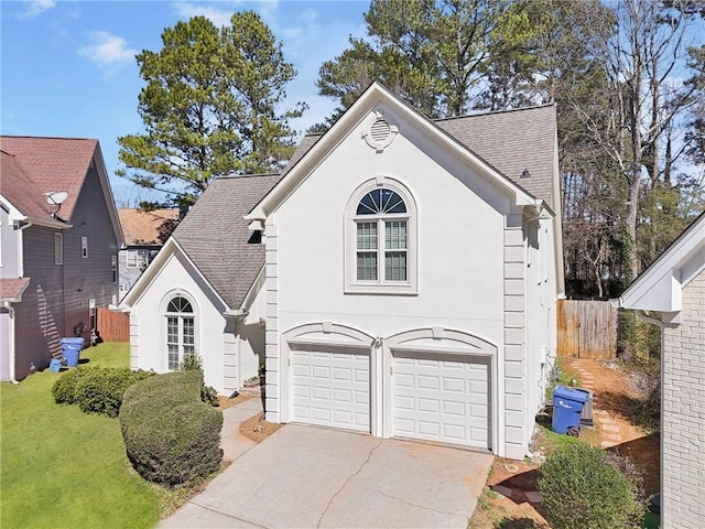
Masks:
[[[492,455],[288,424],[161,528],[465,529]]]

